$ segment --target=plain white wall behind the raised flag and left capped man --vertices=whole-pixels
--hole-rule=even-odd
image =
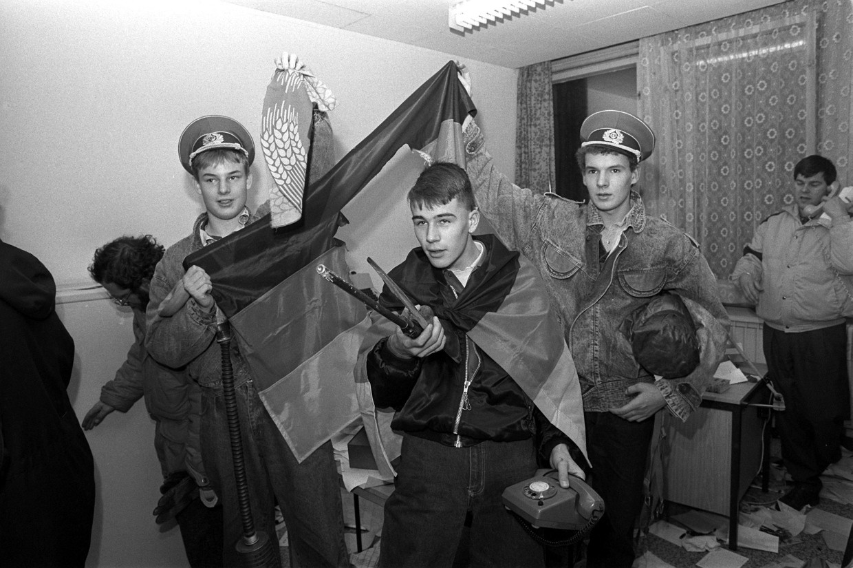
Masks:
[[[299,54],[339,100],[338,157],[455,57],[256,12],[215,0],[0,2],[0,238],[37,255],[66,287],[85,281],[94,250],[121,234],[171,244],[202,206],[177,160],[177,138],[202,114],[258,132],[274,60]],[[513,175],[516,72],[463,61],[499,167]],[[411,160],[401,156],[399,161]],[[252,204],[270,187],[263,160]],[[390,267],[414,246],[392,164],[345,214],[351,264]],[[70,394],[78,417],[131,344],[130,316],[102,293],[68,293],[60,314],[77,343]],[[99,502],[91,566],[183,565],[177,530],[161,534],[153,426],[142,404],[88,434]]]

